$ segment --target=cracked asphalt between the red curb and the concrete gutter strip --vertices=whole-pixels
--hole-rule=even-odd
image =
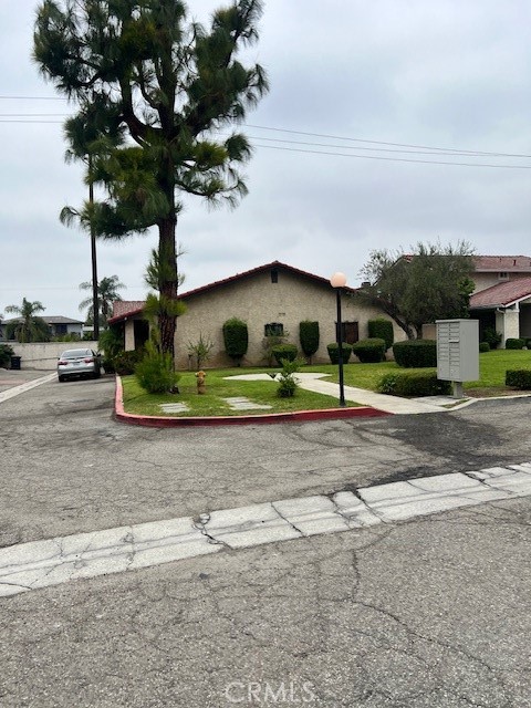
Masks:
[[[114,379],[0,404],[0,546],[530,459],[531,399],[456,413],[153,429],[113,420]]]

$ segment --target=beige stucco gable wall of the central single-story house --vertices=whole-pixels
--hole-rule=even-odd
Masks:
[[[208,366],[232,365],[225,354],[221,329],[230,317],[239,317],[248,324],[249,350],[243,365],[261,365],[266,362],[262,346],[266,324],[282,323],[284,332],[290,333],[287,341],[300,346],[299,323],[303,320],[317,321],[320,324],[320,347],[313,362],[330,362],[326,345],[335,341],[336,296],[335,291],[325,283],[279,269],[277,283],[271,282],[270,272],[267,271],[191,295],[185,302],[187,312],[177,321],[178,368],[190,366],[188,344],[196,343],[200,334],[215,343]],[[383,316],[374,308],[354,305],[348,295],[343,295],[342,303],[342,319],[344,322],[358,322],[360,339],[367,336],[368,320]],[[395,337],[404,339],[398,327]]]

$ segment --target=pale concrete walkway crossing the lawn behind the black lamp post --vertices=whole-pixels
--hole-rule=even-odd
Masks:
[[[301,388],[313,391],[316,394],[323,394],[336,399],[340,398],[340,385],[331,381],[323,381],[329,374],[296,373]],[[237,378],[240,381],[268,381],[272,379],[269,374],[241,374],[240,376],[229,376],[228,378]],[[415,398],[399,398],[398,396],[386,396],[384,394],[375,394],[365,388],[355,388],[354,386],[345,386],[345,400],[350,403],[358,403],[362,406],[371,406],[378,410],[393,413],[395,415],[408,414],[418,415],[420,413],[441,413],[447,410],[448,406],[454,409],[458,407],[458,402],[450,396],[434,396],[433,399],[425,398],[423,400]],[[437,403],[435,403],[435,400]],[[466,403],[468,405],[469,402]],[[459,407],[464,404],[459,404]]]

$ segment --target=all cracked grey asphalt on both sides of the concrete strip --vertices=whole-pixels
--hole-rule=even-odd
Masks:
[[[0,546],[531,461],[530,399],[157,430],[113,382],[0,406]],[[531,706],[531,501],[231,551],[0,601],[0,706]]]

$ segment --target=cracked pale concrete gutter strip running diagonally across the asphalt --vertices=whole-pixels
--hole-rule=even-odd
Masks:
[[[471,504],[531,496],[531,462],[284,499],[0,549],[0,597],[149,568],[225,548],[244,549]]]

